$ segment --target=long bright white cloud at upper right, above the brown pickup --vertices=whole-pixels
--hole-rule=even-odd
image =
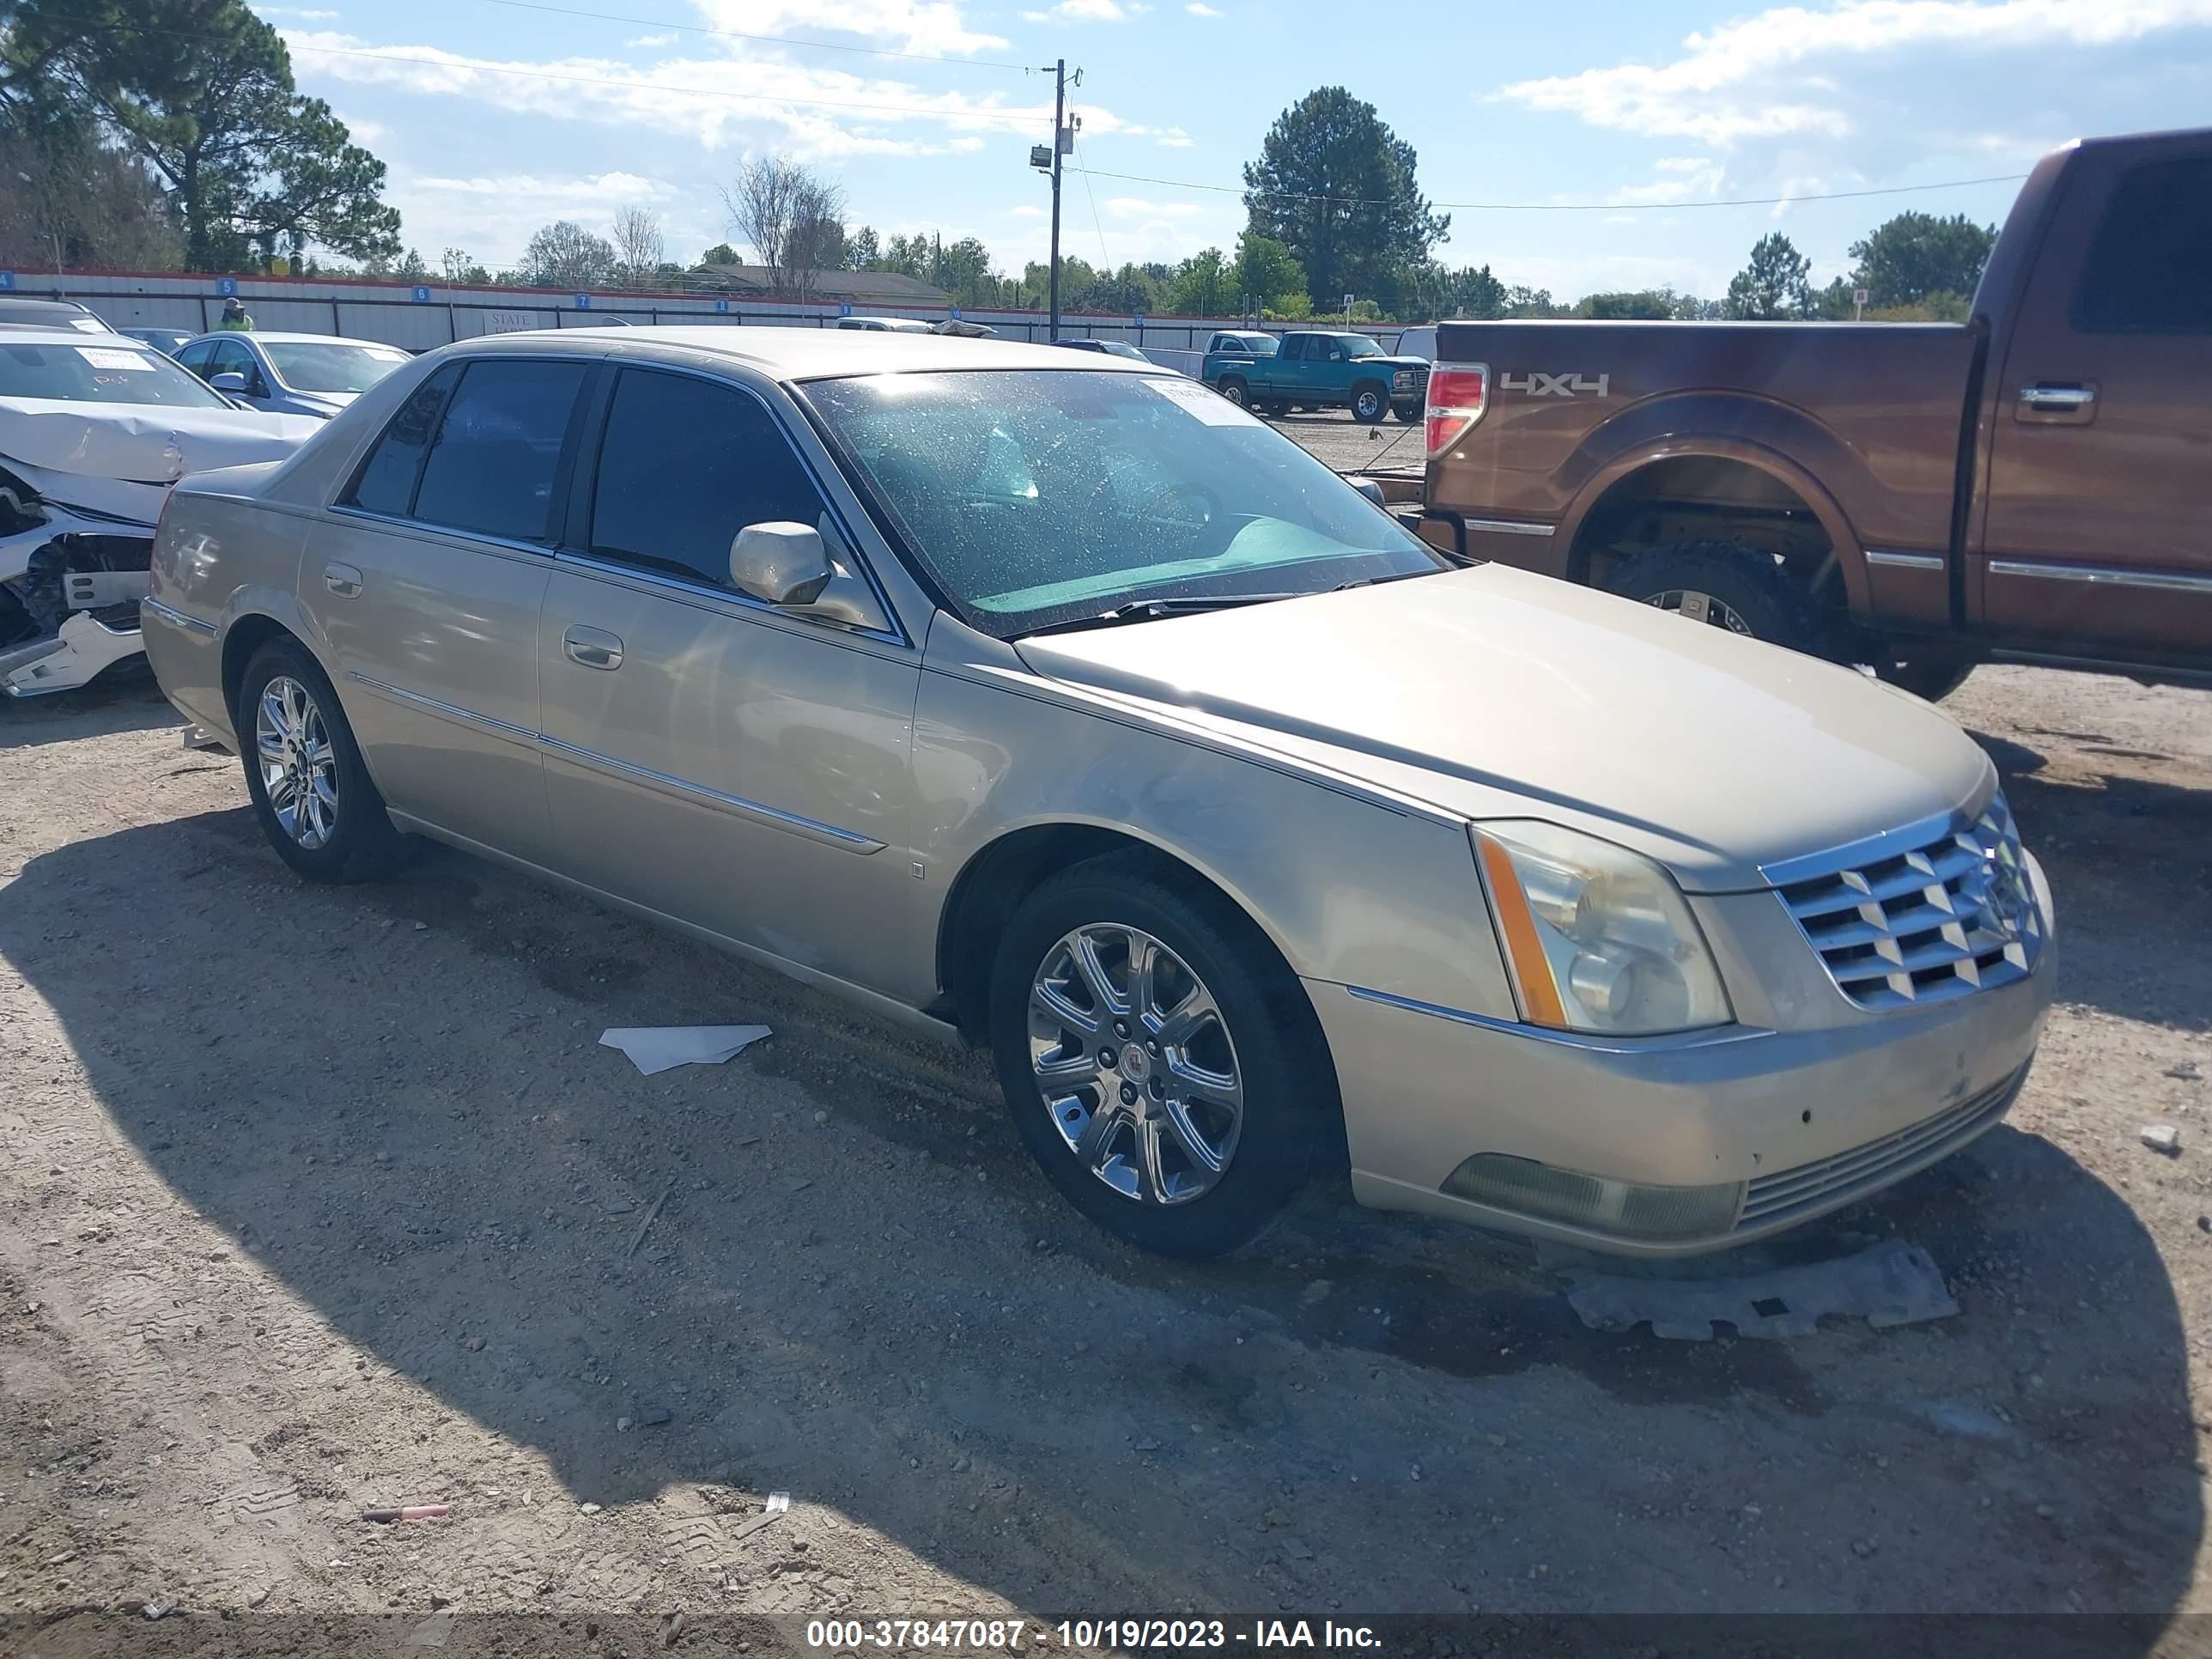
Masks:
[[[1498,95],[1590,126],[1714,146],[1840,139],[1860,115],[1860,88],[1836,73],[1851,62],[2112,46],[2190,24],[2212,24],[2212,0],[1836,0],[1692,33],[1670,62],[1524,80]]]

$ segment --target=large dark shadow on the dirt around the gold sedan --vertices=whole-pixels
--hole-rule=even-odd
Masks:
[[[1586,1329],[1526,1245],[1329,1186],[1228,1263],[1128,1252],[1033,1172],[982,1060],[440,849],[316,889],[243,810],[86,836],[0,889],[0,953],[179,1203],[606,1509],[790,1489],[1055,1617],[2163,1615],[2194,1568],[2172,1285],[2033,1135],[1787,1245],[1911,1237],[1960,1316],[1672,1343]],[[657,1077],[595,1046],[730,1020],[774,1037]],[[283,1336],[241,1349],[257,1449],[327,1489],[372,1449]],[[728,1575],[765,1606],[794,1564],[770,1540]]]

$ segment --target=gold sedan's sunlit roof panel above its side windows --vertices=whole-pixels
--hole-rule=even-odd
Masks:
[[[529,334],[480,334],[442,345],[429,356],[458,352],[542,352],[549,345],[648,358],[710,354],[745,363],[779,380],[834,380],[854,374],[916,374],[929,369],[1084,369],[1093,374],[1159,374],[1152,363],[1130,363],[1113,352],[1071,358],[1053,345],[964,341],[953,334],[898,334],[865,327],[553,327]]]

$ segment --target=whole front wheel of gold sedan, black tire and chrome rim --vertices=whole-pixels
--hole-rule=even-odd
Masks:
[[[1148,854],[1086,860],[1022,902],[991,978],[991,1048],[1046,1179],[1166,1256],[1259,1237],[1338,1113],[1290,967],[1234,905]]]

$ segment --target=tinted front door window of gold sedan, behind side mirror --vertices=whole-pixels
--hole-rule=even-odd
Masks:
[[[759,398],[684,374],[624,369],[606,411],[591,551],[730,586],[748,524],[816,524],[821,495]]]

